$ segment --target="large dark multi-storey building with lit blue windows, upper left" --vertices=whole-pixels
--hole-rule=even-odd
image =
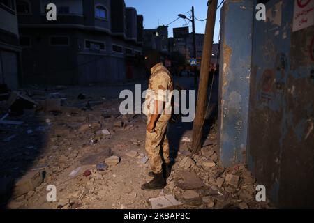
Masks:
[[[47,3],[57,6],[56,21],[46,19]],[[143,73],[137,13],[124,0],[18,0],[17,15],[27,83],[121,82]]]

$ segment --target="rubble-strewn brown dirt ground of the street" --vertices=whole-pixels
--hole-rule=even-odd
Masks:
[[[0,125],[1,182],[16,182],[29,173],[43,176],[27,192],[15,192],[16,183],[1,189],[6,191],[2,196],[9,198],[3,208],[151,208],[149,199],[169,194],[180,202],[176,208],[271,207],[255,201],[256,183],[244,165],[218,167],[216,122],[206,123],[202,150],[194,155],[188,151],[192,123],[170,124],[174,166],[167,186],[141,190],[142,183],[151,180],[149,160],[145,163],[146,117],[122,116],[121,99],[106,92],[87,86],[33,93],[33,100],[47,95],[61,98],[61,112],[31,109],[10,117],[24,121],[22,125]],[[79,93],[84,93],[84,99],[77,98]],[[1,104],[2,111],[4,107]],[[97,164],[103,164],[104,170]],[[57,188],[55,202],[47,201],[48,185]]]

